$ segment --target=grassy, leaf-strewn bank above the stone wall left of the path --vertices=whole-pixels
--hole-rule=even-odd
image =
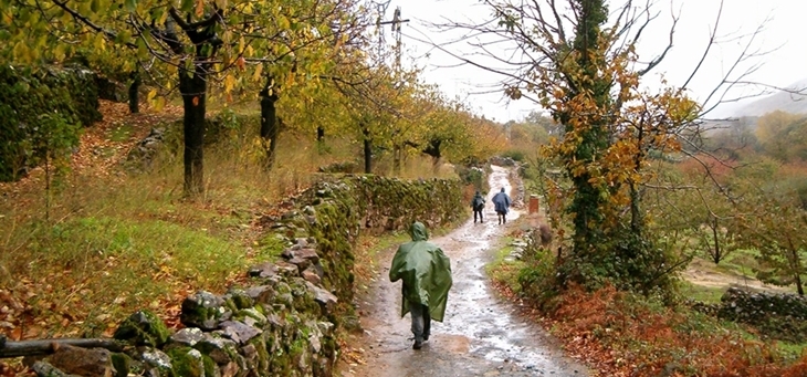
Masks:
[[[206,192],[189,200],[181,156],[171,150],[147,171],[122,168],[126,153],[151,127],[175,122],[176,112],[128,115],[125,104],[104,106],[105,121],[85,132],[54,188],[45,191],[39,170],[0,186],[0,329],[12,339],[109,335],[143,307],[177,325],[189,293],[222,292],[248,265],[276,255],[277,245],[261,238],[262,217],[281,213],[319,166],[358,156],[347,140],[333,138],[322,150],[289,133],[268,174],[249,137],[258,121],[245,118],[228,129],[248,136],[206,149]],[[452,174],[412,157],[400,176]]]

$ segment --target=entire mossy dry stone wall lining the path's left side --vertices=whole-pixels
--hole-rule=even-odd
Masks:
[[[138,311],[114,338],[123,352],[57,347],[25,362],[39,376],[332,376],[339,332],[358,327],[353,306],[354,245],[361,232],[438,227],[463,216],[459,180],[402,181],[376,176],[324,178],[264,218],[283,242],[277,260],[249,269],[250,284],[197,292],[171,332]]]

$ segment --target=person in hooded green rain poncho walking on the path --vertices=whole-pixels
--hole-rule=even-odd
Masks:
[[[411,242],[401,244],[392,258],[389,280],[404,281],[400,316],[412,317],[415,345],[420,349],[429,339],[431,320],[442,322],[451,289],[451,260],[436,244],[427,241],[426,226],[416,221],[409,228]]]

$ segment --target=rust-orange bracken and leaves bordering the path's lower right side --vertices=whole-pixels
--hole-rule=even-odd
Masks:
[[[495,287],[522,302],[509,286]],[[650,307],[614,287],[572,287],[556,304],[544,313],[526,302],[522,314],[551,329],[596,376],[807,376],[807,355],[786,360],[771,344],[722,329],[716,321],[692,323],[685,310]]]

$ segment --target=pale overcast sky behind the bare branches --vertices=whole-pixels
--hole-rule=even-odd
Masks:
[[[611,3],[614,8],[621,1]],[[656,75],[646,78],[646,85],[654,87],[661,74],[670,84],[683,84],[698,64],[708,43],[719,3],[719,0],[656,1],[653,9],[660,14],[640,41],[640,57],[649,60],[667,45],[671,24],[670,9],[675,9],[680,13],[680,20],[673,49],[664,62],[654,70]],[[489,8],[478,0],[392,0],[386,11],[386,20],[392,19],[396,7],[401,8],[405,19],[411,20],[402,25],[404,64],[409,65],[413,62],[425,67],[423,77],[427,82],[439,84],[449,96],[464,98],[474,113],[497,122],[521,119],[530,111],[536,109],[534,104],[526,101],[507,101],[503,98],[501,92],[474,94],[490,91],[491,87],[500,88],[495,83],[500,82],[501,77],[473,66],[455,66],[457,59],[416,40],[428,39],[442,43],[455,39],[457,34],[439,32],[429,28],[428,23],[443,23],[447,19],[465,22],[489,19],[491,14]],[[807,78],[807,38],[804,31],[807,23],[807,0],[725,0],[719,34],[727,36],[752,33],[767,18],[769,21],[763,33],[757,36],[755,46],[775,51],[752,62],[763,65],[750,78],[775,86],[787,86]],[[386,41],[392,43],[394,38],[389,28],[385,33]],[[690,84],[691,95],[704,101],[712,88],[720,83],[729,64],[733,63],[740,53],[740,48],[741,43],[737,41],[725,41],[713,49],[699,75]],[[471,59],[481,59],[472,55],[474,51],[463,43],[449,49]],[[504,50],[502,55],[506,55]],[[721,115],[720,112],[716,114]]]

